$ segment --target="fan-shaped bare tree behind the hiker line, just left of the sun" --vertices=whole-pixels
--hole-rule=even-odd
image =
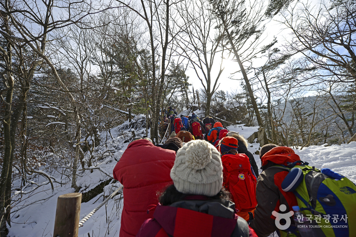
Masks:
[[[183,30],[177,37],[177,44],[203,86],[206,94],[205,116],[210,115],[212,96],[219,87],[218,81],[224,70],[221,50],[223,32],[214,28],[216,19],[209,9],[209,3],[201,0],[183,2],[177,9],[182,19],[180,27]],[[219,52],[220,63],[217,63],[216,56]],[[218,69],[217,72],[215,68]]]

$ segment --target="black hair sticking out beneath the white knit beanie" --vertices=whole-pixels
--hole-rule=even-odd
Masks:
[[[191,196],[194,194],[185,194],[178,191],[175,186],[169,185],[159,197],[159,202],[162,206],[169,206],[174,202],[184,200],[187,196]],[[230,200],[231,201],[231,194],[227,191],[224,187],[216,194],[215,196],[208,197],[211,200]]]

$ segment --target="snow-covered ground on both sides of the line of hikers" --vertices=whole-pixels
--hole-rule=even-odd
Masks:
[[[233,125],[228,127],[242,134],[245,138],[257,131],[257,127],[245,127],[243,125]],[[112,170],[116,161],[128,146],[128,133],[118,132],[117,128],[111,129],[111,134],[114,139],[109,138],[105,146],[99,147],[97,155],[101,158],[94,162],[96,168],[93,173],[90,171],[79,172],[77,185],[91,189],[99,182],[112,178]],[[139,133],[136,133],[139,134]],[[107,139],[107,134],[102,134],[103,139]],[[251,153],[255,153],[259,149],[258,143],[249,144],[248,149]],[[303,150],[295,150],[300,155],[301,159],[308,161],[311,165],[318,168],[328,167],[333,171],[347,176],[352,182],[356,182],[356,142],[343,144],[341,146],[311,146]],[[257,165],[261,162],[259,156],[254,154]],[[43,167],[44,171],[46,167]],[[54,176],[53,174],[51,174]],[[18,190],[22,190],[22,198],[17,202],[11,214],[11,227],[9,227],[9,236],[53,236],[54,218],[56,211],[56,202],[58,196],[66,193],[74,192],[71,188],[71,182],[68,178],[61,177],[60,174],[54,176],[57,181],[65,182],[65,184],[54,183],[54,191],[51,191],[50,184],[46,179],[39,177],[36,180],[37,184],[44,184],[38,187],[35,184],[30,184],[21,187],[20,181],[14,181],[13,186]],[[114,190],[120,187],[121,184],[111,182],[107,185],[102,193],[88,202],[81,204],[80,219],[93,211],[101,202],[109,196]],[[17,191],[15,197],[19,197],[20,192]],[[31,204],[31,205],[30,205]],[[122,208],[122,196],[116,195],[107,202],[106,206],[99,209],[91,218],[89,218],[79,228],[79,236],[118,236],[120,230],[120,218]]]

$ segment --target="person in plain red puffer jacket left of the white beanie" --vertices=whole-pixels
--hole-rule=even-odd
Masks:
[[[129,144],[113,170],[114,179],[124,185],[124,208],[121,216],[120,237],[135,236],[150,205],[157,205],[157,192],[172,184],[169,176],[175,151],[153,145],[150,139],[139,139]]]

